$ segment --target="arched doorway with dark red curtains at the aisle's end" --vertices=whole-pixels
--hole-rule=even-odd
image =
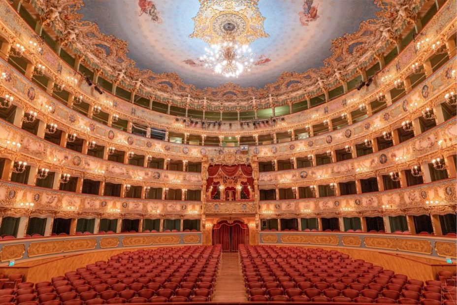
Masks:
[[[249,244],[249,228],[242,221],[219,221],[213,226],[213,244],[222,244],[222,251],[236,252],[238,244]]]

